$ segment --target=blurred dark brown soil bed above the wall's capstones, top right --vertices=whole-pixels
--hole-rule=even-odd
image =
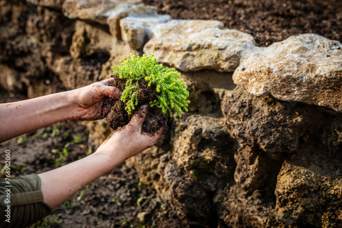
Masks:
[[[220,20],[250,33],[258,46],[290,35],[317,33],[342,42],[341,0],[143,0],[174,19]]]

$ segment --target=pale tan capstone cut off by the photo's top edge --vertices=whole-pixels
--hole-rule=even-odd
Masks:
[[[137,3],[141,3],[141,0],[66,0],[62,12],[71,19],[79,18],[106,25],[109,16],[120,14]]]

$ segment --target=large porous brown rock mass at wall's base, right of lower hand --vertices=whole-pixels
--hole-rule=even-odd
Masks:
[[[153,184],[180,218],[208,221],[213,216],[213,193],[233,176],[235,141],[227,134],[224,119],[204,115],[176,119],[170,137],[127,163],[144,184]]]

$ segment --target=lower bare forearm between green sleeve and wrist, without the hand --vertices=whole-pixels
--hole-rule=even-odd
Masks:
[[[114,169],[125,160],[119,150],[115,152],[116,156],[113,153],[96,152],[58,169],[38,174],[42,181],[44,202],[56,208],[84,186]]]

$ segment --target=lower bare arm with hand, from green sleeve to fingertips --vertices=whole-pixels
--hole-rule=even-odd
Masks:
[[[45,203],[56,208],[116,165],[151,147],[160,134],[148,136],[141,133],[145,117],[146,106],[133,116],[127,126],[103,142],[94,154],[64,167],[38,174],[42,181],[41,190]]]

